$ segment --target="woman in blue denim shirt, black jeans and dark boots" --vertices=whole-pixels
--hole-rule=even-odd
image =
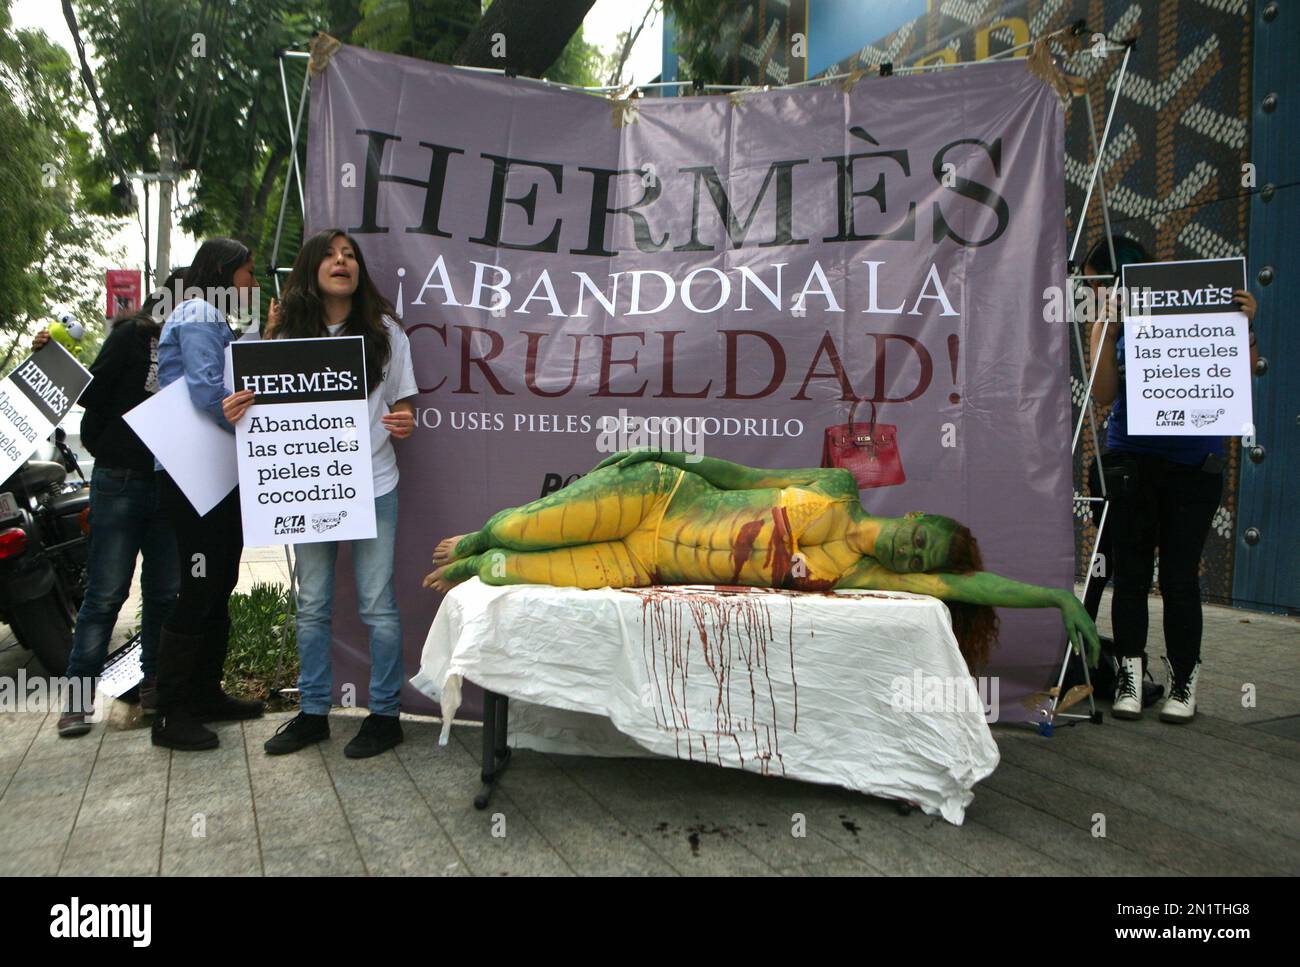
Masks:
[[[256,287],[248,250],[230,238],[208,239],[185,273],[187,298],[166,317],[159,338],[159,386],[185,380],[195,408],[231,434],[231,421],[248,404],[226,395],[225,352],[235,338],[226,312],[248,305]],[[181,594],[162,625],[153,745],[214,749],[217,733],[203,723],[256,719],[263,711],[261,702],[221,690],[230,594],[243,552],[239,489],[200,516],[170,474],[164,472],[159,480],[162,507],[176,529]]]

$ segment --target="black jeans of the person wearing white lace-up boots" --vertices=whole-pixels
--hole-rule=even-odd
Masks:
[[[1223,496],[1223,473],[1147,454],[1110,454],[1105,473],[1115,655],[1145,658],[1147,597],[1158,548],[1165,651],[1174,675],[1186,677],[1201,656],[1201,548]]]

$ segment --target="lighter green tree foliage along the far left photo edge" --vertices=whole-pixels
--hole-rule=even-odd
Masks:
[[[77,173],[90,156],[68,53],[39,30],[13,30],[0,0],[0,369],[57,307],[94,350],[103,338],[105,239],[116,222],[83,213]]]

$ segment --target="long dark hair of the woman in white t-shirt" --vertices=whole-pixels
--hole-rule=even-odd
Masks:
[[[391,354],[384,317],[396,317],[396,309],[374,287],[356,239],[342,229],[325,229],[303,242],[280,299],[283,321],[276,331],[276,338],[309,339],[329,335],[325,300],[321,298],[317,276],[321,263],[329,257],[330,244],[341,237],[352,247],[358,269],[352,308],[343,320],[342,331],[344,335],[360,335],[365,339],[365,389],[367,393],[374,393],[374,387],[384,380],[384,365]]]

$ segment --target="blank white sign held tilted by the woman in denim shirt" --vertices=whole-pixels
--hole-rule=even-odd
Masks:
[[[194,406],[185,377],[173,380],[122,419],[200,517],[239,482],[234,437]]]

